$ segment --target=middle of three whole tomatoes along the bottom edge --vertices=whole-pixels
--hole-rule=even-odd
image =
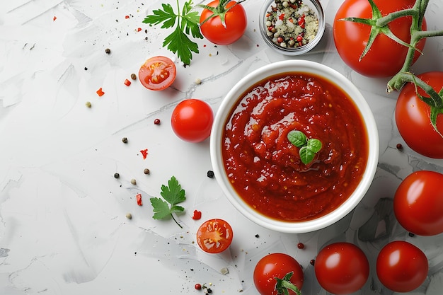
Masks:
[[[314,265],[318,283],[333,294],[350,294],[369,277],[364,252],[352,243],[333,243],[320,250]]]

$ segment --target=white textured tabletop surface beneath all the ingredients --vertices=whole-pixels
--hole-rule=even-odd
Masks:
[[[138,72],[146,57],[174,58],[161,47],[165,32],[142,23],[160,4],[1,0],[0,294],[199,294],[197,282],[212,283],[214,294],[258,294],[252,285],[255,262],[277,251],[294,255],[304,266],[304,294],[325,294],[309,260],[322,245],[339,240],[357,243],[371,261],[372,278],[357,294],[389,294],[374,276],[374,261],[393,238],[419,245],[430,261],[429,279],[413,294],[440,294],[442,235],[410,238],[396,225],[391,237],[376,243],[357,239],[357,229],[376,202],[391,198],[406,175],[418,169],[443,172],[441,160],[422,158],[405,144],[404,152],[396,150],[402,142],[393,125],[396,94],[385,95],[386,81],[350,71],[335,53],[330,25],[314,52],[297,57],[327,64],[360,88],[379,126],[379,170],[355,214],[330,228],[303,235],[267,231],[238,214],[216,180],[206,177],[209,140],[180,141],[169,121],[173,107],[185,98],[206,100],[217,111],[238,79],[288,57],[260,40],[261,2],[248,0],[248,29],[241,40],[228,47],[200,40],[200,54],[186,68],[177,62],[178,78],[166,91],[148,91],[138,81],[127,87],[123,81]],[[323,1],[327,23],[339,4]],[[431,1],[430,29],[439,25],[442,11],[441,1]],[[442,70],[442,47],[442,38],[428,40],[415,70]],[[96,95],[100,87],[102,97]],[[86,101],[92,108],[85,107]],[[154,125],[155,118],[161,125]],[[128,144],[122,144],[122,137]],[[146,160],[142,149],[149,151]],[[151,175],[144,175],[144,168]],[[172,221],[151,218],[148,198],[159,196],[171,175],[187,194],[187,211],[179,217],[183,230]],[[137,185],[131,185],[132,178]],[[138,192],[142,207],[135,202]],[[194,209],[202,211],[201,221],[219,217],[231,223],[234,242],[228,252],[207,255],[196,247],[200,221],[192,220]],[[125,218],[127,212],[132,220]],[[304,250],[297,248],[299,242]],[[223,267],[229,274],[220,273]]]

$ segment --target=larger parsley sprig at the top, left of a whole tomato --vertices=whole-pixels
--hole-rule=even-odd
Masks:
[[[198,25],[200,16],[198,11],[192,11],[192,0],[186,1],[180,11],[180,4],[177,0],[177,13],[171,4],[161,4],[163,9],[152,11],[153,14],[146,16],[143,23],[149,25],[159,25],[161,28],[176,28],[173,32],[163,40],[163,47],[167,47],[169,51],[176,53],[178,58],[185,64],[189,65],[192,59],[192,52],[199,53],[197,43],[190,40],[188,35],[203,39]]]

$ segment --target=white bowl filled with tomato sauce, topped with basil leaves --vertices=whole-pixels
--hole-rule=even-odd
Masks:
[[[267,229],[306,233],[339,221],[364,197],[379,135],[345,76],[286,60],[231,88],[214,118],[210,151],[217,182],[239,212]]]

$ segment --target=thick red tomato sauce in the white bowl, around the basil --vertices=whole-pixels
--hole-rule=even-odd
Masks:
[[[322,149],[304,165],[287,134],[299,130]],[[350,197],[367,164],[368,139],[356,105],[319,76],[285,73],[256,83],[239,98],[224,130],[231,185],[265,216],[306,221]]]

